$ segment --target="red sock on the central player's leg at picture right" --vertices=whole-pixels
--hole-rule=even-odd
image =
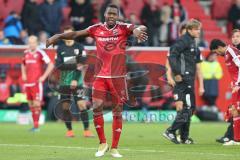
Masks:
[[[113,116],[112,124],[112,148],[118,147],[118,142],[122,133],[122,114]]]

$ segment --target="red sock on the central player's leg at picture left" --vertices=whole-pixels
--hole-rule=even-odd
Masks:
[[[104,119],[102,114],[94,115],[94,125],[98,134],[98,139],[100,143],[106,143],[106,138],[104,134]]]

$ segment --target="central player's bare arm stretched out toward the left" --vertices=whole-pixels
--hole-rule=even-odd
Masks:
[[[59,40],[66,39],[66,40],[74,40],[78,37],[86,37],[89,33],[86,29],[80,31],[73,31],[68,33],[62,34],[55,34],[54,36],[50,37],[46,42],[46,47],[48,48],[51,45],[55,45]]]

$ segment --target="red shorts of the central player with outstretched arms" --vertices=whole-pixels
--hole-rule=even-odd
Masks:
[[[126,77],[99,78],[93,82],[92,98],[107,100],[110,95],[113,104],[122,105],[128,100]]]

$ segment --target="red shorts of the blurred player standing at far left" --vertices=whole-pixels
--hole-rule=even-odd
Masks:
[[[27,100],[29,101],[42,101],[43,100],[43,84],[36,83],[34,86],[25,86]]]

